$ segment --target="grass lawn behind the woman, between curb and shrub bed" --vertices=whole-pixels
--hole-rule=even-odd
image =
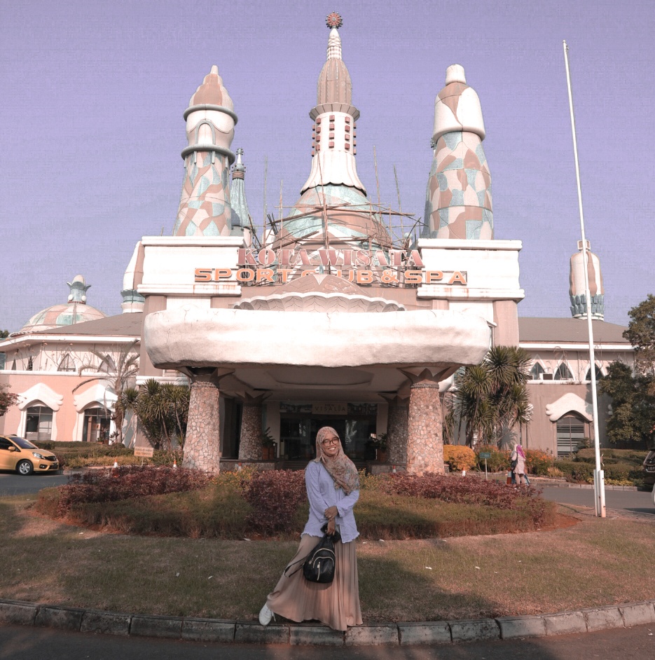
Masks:
[[[254,620],[297,541],[137,537],[0,500],[0,597],[119,612]],[[578,516],[508,535],[360,540],[364,621],[537,614],[653,598],[655,525]],[[256,568],[254,568],[256,567]]]

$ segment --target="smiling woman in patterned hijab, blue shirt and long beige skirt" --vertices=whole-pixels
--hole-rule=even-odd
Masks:
[[[346,630],[347,626],[361,624],[354,543],[359,532],[352,514],[359,499],[359,475],[343,453],[337,432],[329,426],[317,433],[316,458],[305,469],[305,486],[310,515],[288,567],[295,565],[288,575],[282,573],[280,582],[268,594],[259,612],[259,623],[268,626],[273,614],[280,614],[291,621],[318,619],[334,630]],[[302,563],[323,536],[321,528],[325,524],[328,534],[337,530],[341,535],[334,543],[334,579],[329,584],[308,582]],[[296,570],[298,566],[300,570]]]

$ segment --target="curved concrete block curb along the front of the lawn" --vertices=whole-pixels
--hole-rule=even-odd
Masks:
[[[122,614],[0,599],[0,624],[193,642],[408,646],[591,633],[607,628],[655,624],[655,600],[530,617],[373,624],[348,628],[344,633],[320,624],[270,624],[264,627],[252,621]]]

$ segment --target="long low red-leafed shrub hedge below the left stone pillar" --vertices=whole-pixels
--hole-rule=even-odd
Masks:
[[[116,467],[74,474],[58,490],[57,516],[65,517],[76,504],[115,502],[130,497],[198,490],[209,483],[199,470],[178,467]]]

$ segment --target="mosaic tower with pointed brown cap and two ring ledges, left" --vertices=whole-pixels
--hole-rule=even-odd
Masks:
[[[237,116],[214,65],[184,113],[188,146],[182,151],[184,183],[173,235],[229,236],[232,233],[229,170]]]

